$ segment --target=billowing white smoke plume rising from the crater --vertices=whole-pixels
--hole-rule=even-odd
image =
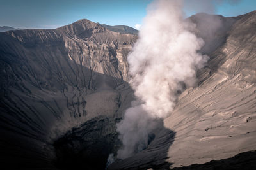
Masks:
[[[189,31],[194,27],[184,20],[182,1],[150,4],[138,41],[128,56],[136,101],[116,125],[123,143],[118,158],[130,157],[147,147],[154,120],[172,113],[177,91],[184,88],[181,84],[194,85],[196,70],[208,59],[198,53],[204,41]]]

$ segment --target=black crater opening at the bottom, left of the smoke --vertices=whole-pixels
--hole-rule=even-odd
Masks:
[[[60,169],[105,169],[108,155],[122,145],[116,132],[116,119],[93,118],[74,127],[54,142]]]

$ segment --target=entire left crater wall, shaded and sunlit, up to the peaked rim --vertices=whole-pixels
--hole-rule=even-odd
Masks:
[[[108,128],[84,138],[115,139],[116,121],[132,96],[126,59],[135,39],[89,20],[0,33],[1,164],[52,167],[66,160],[56,141],[88,120],[87,126],[103,121]]]

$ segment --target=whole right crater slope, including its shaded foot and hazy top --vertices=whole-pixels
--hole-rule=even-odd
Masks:
[[[256,11],[189,19],[205,40],[202,52],[210,60],[198,72],[198,85],[182,92],[173,113],[163,120],[173,132],[156,129],[147,149],[109,169],[168,169],[256,150]],[[205,22],[213,20],[220,23]],[[200,30],[205,25],[209,29]]]

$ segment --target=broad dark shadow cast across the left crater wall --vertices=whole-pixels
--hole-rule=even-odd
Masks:
[[[65,44],[58,38],[56,41],[52,39],[28,45],[3,35],[4,39],[0,42],[0,67],[3,70],[0,83],[1,165],[8,169],[56,168],[52,164],[56,160],[55,148],[57,162],[67,154],[59,152],[58,142],[53,143],[51,129],[58,129],[58,125],[71,129],[79,122],[82,122],[83,131],[80,130],[83,134],[92,133],[90,147],[95,155],[100,157],[100,154],[104,154],[101,153],[104,149],[99,151],[100,147],[109,146],[109,140],[115,141],[115,123],[122,116],[126,104],[129,105],[129,99],[124,103],[121,100],[124,97],[122,90],[131,90],[128,83],[120,78],[94,72],[84,67],[82,62],[70,60]],[[98,92],[103,85],[116,93],[113,117],[99,117],[84,123],[81,120],[87,115],[86,95]],[[74,122],[74,126],[70,126],[72,121],[64,124],[63,120],[67,117]],[[106,131],[110,137],[105,138],[100,127],[108,128]],[[72,131],[77,132],[79,128]],[[70,136],[68,140],[76,145],[79,143],[77,138],[76,135]],[[100,144],[97,143],[98,139],[102,139]],[[63,140],[57,141],[61,143]],[[80,149],[83,152],[83,147],[71,147],[71,152],[80,152]],[[67,157],[72,157],[72,153]],[[73,160],[76,163],[72,159],[70,164],[74,165]],[[86,161],[83,160],[83,163]]]

